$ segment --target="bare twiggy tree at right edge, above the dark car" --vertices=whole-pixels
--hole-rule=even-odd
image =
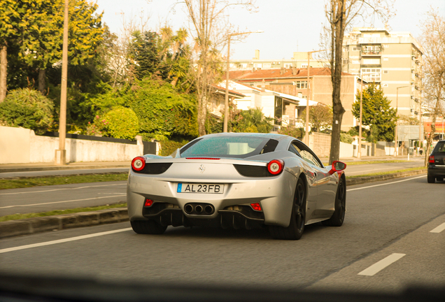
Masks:
[[[424,50],[424,96],[431,112],[431,132],[425,149],[425,166],[436,131],[437,116],[445,108],[445,20],[436,10],[427,13],[422,26],[421,43]]]

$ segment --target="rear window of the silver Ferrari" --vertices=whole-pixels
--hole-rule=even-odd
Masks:
[[[181,149],[181,157],[246,158],[273,152],[278,141],[258,136],[211,136]]]

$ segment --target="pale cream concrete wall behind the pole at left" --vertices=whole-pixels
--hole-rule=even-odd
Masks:
[[[143,143],[137,145],[66,138],[66,161],[129,161],[143,155]],[[0,127],[0,164],[45,163],[55,161],[59,138],[36,136],[30,129]]]

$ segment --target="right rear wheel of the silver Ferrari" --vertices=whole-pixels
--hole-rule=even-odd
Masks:
[[[297,187],[295,187],[289,227],[269,226],[269,232],[274,239],[298,240],[299,238],[302,238],[305,223],[306,186],[304,185],[302,178],[299,178]]]

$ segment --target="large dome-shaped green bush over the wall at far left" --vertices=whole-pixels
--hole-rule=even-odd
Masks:
[[[0,103],[0,121],[10,127],[32,129],[45,133],[54,122],[54,103],[34,89],[16,89]]]

